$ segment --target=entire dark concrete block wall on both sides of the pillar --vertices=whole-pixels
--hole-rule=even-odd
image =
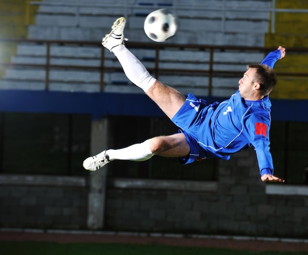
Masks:
[[[88,182],[70,178],[0,175],[0,227],[87,229]],[[308,187],[282,185],[260,180],[253,149],[219,161],[217,182],[107,179],[101,229],[306,238]]]

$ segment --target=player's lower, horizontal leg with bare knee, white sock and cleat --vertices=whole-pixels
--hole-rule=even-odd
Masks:
[[[87,170],[95,171],[116,159],[145,161],[151,159],[154,155],[185,157],[189,153],[189,150],[189,144],[183,133],[157,136],[143,143],[133,144],[123,149],[103,151],[96,156],[85,159],[83,166]]]

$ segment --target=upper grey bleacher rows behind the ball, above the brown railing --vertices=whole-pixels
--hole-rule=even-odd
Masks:
[[[270,14],[262,10],[271,7],[271,0],[151,2],[44,0],[39,3],[36,24],[29,27],[29,37],[99,40],[116,18],[125,16],[125,35],[133,41],[150,42],[143,32],[145,17],[164,5],[178,17],[180,29],[174,39],[176,43],[259,46],[263,43],[263,34],[268,31]],[[262,36],[258,39],[260,34]]]

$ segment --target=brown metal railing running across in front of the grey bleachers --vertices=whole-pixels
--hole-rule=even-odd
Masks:
[[[100,92],[104,91],[104,75],[106,72],[112,72],[112,71],[121,71],[122,67],[115,67],[115,66],[108,66],[105,64],[105,48],[100,45],[100,42],[94,42],[94,41],[62,41],[62,40],[21,40],[21,39],[0,39],[0,42],[6,42],[6,43],[33,43],[34,45],[46,45],[46,63],[45,64],[31,64],[31,63],[0,63],[0,66],[10,66],[10,67],[43,67],[45,69],[45,90],[49,90],[49,82],[50,82],[50,69],[51,68],[74,68],[74,69],[90,69],[90,70],[97,70],[100,72],[100,80],[99,80],[99,90]],[[50,49],[51,45],[90,45],[93,47],[100,47],[100,64],[99,65],[68,65],[68,64],[51,64],[51,54]],[[270,51],[273,51],[275,49],[268,48],[268,47],[243,47],[243,46],[214,46],[214,45],[179,45],[179,44],[170,44],[170,43],[137,43],[137,42],[127,42],[127,47],[129,49],[151,49],[154,51],[154,58],[151,59],[151,61],[154,63],[153,67],[147,68],[150,72],[154,74],[154,76],[158,79],[159,75],[161,73],[165,74],[172,74],[172,75],[183,75],[186,74],[187,76],[195,76],[195,75],[206,75],[208,77],[208,96],[212,96],[212,89],[213,89],[213,77],[214,76],[228,76],[228,77],[237,77],[240,78],[243,74],[243,71],[245,71],[245,64],[243,61],[238,60],[234,63],[225,63],[227,65],[224,65],[224,68],[216,68],[217,61],[216,54],[221,54],[225,52],[231,52],[235,55],[246,52],[246,53],[261,53],[263,56],[267,54]],[[197,67],[186,68],[186,62],[185,60],[182,61],[183,65],[181,68],[172,67],[172,63],[167,63],[170,67],[162,67],[161,64],[164,62],[163,55],[166,52],[166,50],[180,50],[180,51],[193,51],[192,54],[201,54],[204,52],[207,52],[207,55],[205,58],[202,59],[202,63],[196,62]],[[108,51],[108,50],[107,50]],[[307,48],[288,48],[287,49],[288,54],[307,54],[308,49]],[[177,56],[174,57],[175,59]],[[261,61],[259,59],[259,61]],[[220,60],[224,61],[224,60]],[[177,63],[180,63],[181,61],[177,60]],[[189,60],[189,63],[193,61]],[[241,71],[232,69],[232,64],[241,64],[243,65],[243,68],[241,68]],[[206,68],[206,66],[208,68]],[[289,67],[292,69],[292,63],[289,64]],[[294,69],[294,68],[293,68]],[[304,77],[305,79],[308,78],[308,72],[283,72],[279,73],[277,72],[277,76],[288,76],[288,77]]]

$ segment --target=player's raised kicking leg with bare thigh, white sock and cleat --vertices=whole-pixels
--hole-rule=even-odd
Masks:
[[[102,39],[102,45],[115,54],[127,78],[143,89],[171,119],[184,104],[185,96],[152,77],[145,66],[123,45],[124,26],[124,18],[116,20],[112,31]]]

